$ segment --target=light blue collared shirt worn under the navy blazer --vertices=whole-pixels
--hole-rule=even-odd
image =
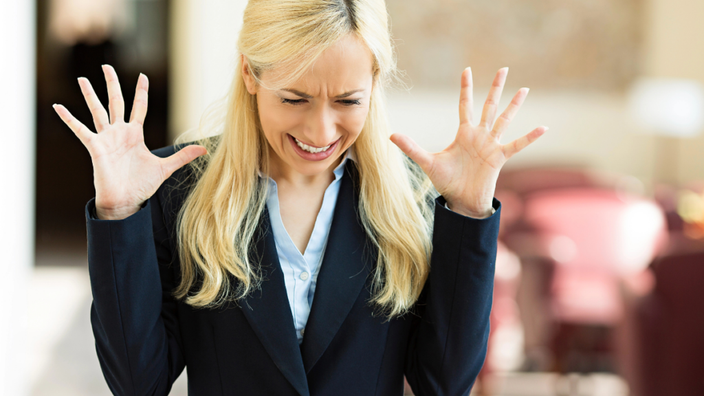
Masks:
[[[269,195],[267,197],[267,209],[271,221],[276,251],[279,255],[279,263],[284,272],[284,282],[286,283],[286,294],[291,305],[291,314],[294,316],[296,326],[296,337],[298,344],[303,342],[303,333],[310,314],[310,307],[313,305],[313,295],[315,294],[315,283],[318,280],[322,257],[325,254],[327,236],[330,233],[332,224],[332,214],[337,203],[337,194],[340,191],[340,182],[344,173],[345,163],[348,159],[353,159],[351,150],[347,150],[340,164],[334,169],[335,180],[333,180],[322,198],[322,206],[315,218],[313,233],[310,235],[306,251],[301,254],[294,241],[289,237],[289,233],[284,228],[279,209],[279,194],[276,182],[272,178],[269,180]]]

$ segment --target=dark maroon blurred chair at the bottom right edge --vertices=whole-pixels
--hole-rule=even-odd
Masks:
[[[704,395],[704,242],[672,240],[638,307],[639,396]]]

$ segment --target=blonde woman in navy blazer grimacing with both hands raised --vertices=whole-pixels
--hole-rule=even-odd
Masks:
[[[466,394],[496,178],[546,130],[499,143],[527,89],[497,119],[499,70],[475,126],[465,70],[457,137],[429,154],[389,141],[383,0],[251,0],[238,44],[225,117],[201,125],[220,135],[199,144],[150,153],[147,79],[125,123],[110,66],[109,118],[79,80],[97,134],[55,106],[94,164],[91,317],[111,390],[167,395],[187,366],[194,395],[401,395],[404,375],[416,395]]]

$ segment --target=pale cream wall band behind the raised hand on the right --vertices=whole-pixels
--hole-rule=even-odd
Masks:
[[[510,73],[509,73],[510,74]],[[481,114],[491,82],[477,85],[474,114]],[[501,108],[508,105],[517,87],[507,87]],[[391,96],[389,115],[396,132],[413,137],[431,151],[444,149],[455,137],[458,89],[411,89]],[[633,175],[648,187],[653,174],[653,137],[643,135],[624,114],[627,101],[612,92],[574,92],[532,89],[502,142],[510,142],[540,125],[550,130],[506,166],[589,166],[607,173]]]

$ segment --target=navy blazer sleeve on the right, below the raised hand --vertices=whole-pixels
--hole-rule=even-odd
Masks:
[[[405,373],[416,396],[468,395],[486,357],[501,204],[476,219],[435,200],[430,273],[416,305]]]

